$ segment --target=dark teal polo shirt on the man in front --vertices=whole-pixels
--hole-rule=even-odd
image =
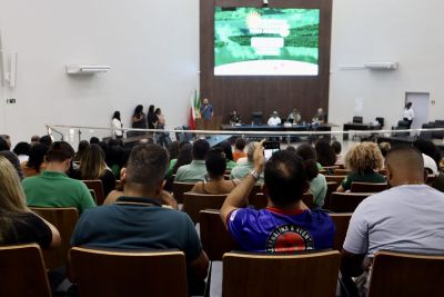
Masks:
[[[84,211],[72,246],[114,249],[180,249],[196,259],[202,246],[185,212],[162,208],[155,199],[120,197],[115,204]]]

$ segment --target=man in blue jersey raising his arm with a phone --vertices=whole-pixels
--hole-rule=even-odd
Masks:
[[[334,225],[321,209],[309,210],[302,195],[309,190],[303,161],[280,150],[265,164],[263,141],[254,151],[254,170],[226,197],[221,219],[241,249],[259,253],[297,251],[333,247]],[[265,172],[268,207],[244,205],[259,175]]]

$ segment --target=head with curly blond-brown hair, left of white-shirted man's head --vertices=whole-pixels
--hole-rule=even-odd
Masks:
[[[383,157],[374,142],[356,143],[345,155],[345,167],[356,174],[372,172],[382,166]]]

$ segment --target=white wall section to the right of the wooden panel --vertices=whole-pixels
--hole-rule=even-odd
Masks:
[[[444,119],[444,2],[333,1],[329,120],[342,125],[363,102],[365,121],[384,117],[385,127],[401,119],[405,92],[430,92],[430,120]],[[341,70],[341,65],[397,61],[396,71]]]

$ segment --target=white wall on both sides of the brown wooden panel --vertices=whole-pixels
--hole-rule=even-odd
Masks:
[[[135,105],[163,107],[168,123],[186,122],[199,85],[199,0],[0,0],[3,46],[18,56],[17,88],[0,87],[0,133],[13,141],[44,123],[109,126]],[[342,125],[362,99],[365,121],[401,117],[406,91],[430,92],[430,120],[444,119],[444,2],[333,1],[330,121]],[[340,65],[398,61],[396,71]],[[68,62],[107,63],[110,72],[74,78]],[[16,105],[6,105],[16,98]]]

